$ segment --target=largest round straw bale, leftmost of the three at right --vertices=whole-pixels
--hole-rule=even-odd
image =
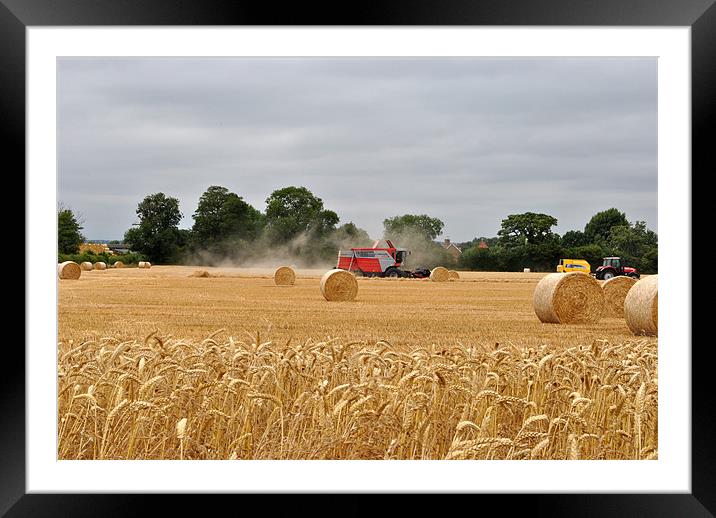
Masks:
[[[604,293],[596,279],[586,273],[550,273],[537,283],[532,305],[542,322],[593,323],[602,317]]]

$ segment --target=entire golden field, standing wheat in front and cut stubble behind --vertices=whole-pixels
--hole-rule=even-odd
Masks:
[[[657,339],[541,323],[544,274],[359,278],[327,302],[323,272],[59,280],[58,458],[657,457]]]

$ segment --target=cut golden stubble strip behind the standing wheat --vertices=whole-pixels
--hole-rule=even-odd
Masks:
[[[194,272],[208,277],[192,277]],[[540,273],[460,272],[460,279],[358,278],[353,302],[321,295],[324,270],[297,270],[290,290],[274,284],[274,269],[152,266],[86,272],[59,281],[59,340],[133,340],[158,330],[202,340],[217,329],[276,342],[387,340],[395,347],[431,344],[520,346],[590,344],[633,339],[623,318],[595,324],[542,324],[532,309]]]

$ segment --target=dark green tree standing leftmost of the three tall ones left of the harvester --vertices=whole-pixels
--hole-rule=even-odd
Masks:
[[[124,241],[153,263],[174,259],[181,239],[179,200],[162,192],[151,194],[139,203],[137,215],[139,226],[127,230]]]

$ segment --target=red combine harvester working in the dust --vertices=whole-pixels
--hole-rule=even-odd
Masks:
[[[395,248],[393,243],[386,240],[387,248],[378,248],[376,241],[372,248],[351,248],[338,251],[338,265],[336,268],[348,270],[356,275],[366,277],[430,277],[430,270],[416,268],[415,270],[401,270],[406,256],[410,253],[404,248]]]

